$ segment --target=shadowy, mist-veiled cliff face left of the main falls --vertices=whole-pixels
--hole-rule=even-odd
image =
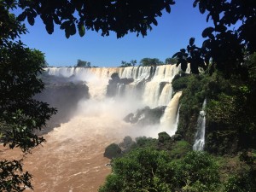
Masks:
[[[89,99],[89,89],[84,82],[75,81],[73,77],[67,79],[44,74],[40,78],[44,81],[45,89],[34,98],[57,109],[57,113],[49,120],[49,126],[41,132],[43,134],[67,122],[76,110],[78,102]]]

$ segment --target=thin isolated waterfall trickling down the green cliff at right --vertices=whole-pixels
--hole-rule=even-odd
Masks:
[[[206,112],[205,108],[207,105],[207,99],[204,100],[202,109],[199,113],[197,120],[197,131],[195,134],[195,143],[193,145],[193,150],[202,151],[205,145],[205,133],[206,133]]]

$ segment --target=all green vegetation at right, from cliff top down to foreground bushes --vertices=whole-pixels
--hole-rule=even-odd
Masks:
[[[136,138],[113,159],[113,172],[99,191],[256,190],[255,54],[247,57],[247,79],[224,73],[178,74],[183,91],[175,136]],[[197,119],[207,98],[206,152],[193,152]]]

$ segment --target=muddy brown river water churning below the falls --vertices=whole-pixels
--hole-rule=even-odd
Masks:
[[[111,172],[103,157],[108,144],[120,139],[125,127],[118,119],[76,116],[45,135],[47,143],[26,154],[24,171],[32,174],[36,192],[97,191]],[[108,126],[114,125],[114,126]],[[18,150],[3,150],[5,158],[19,157]],[[30,191],[30,190],[26,190]]]

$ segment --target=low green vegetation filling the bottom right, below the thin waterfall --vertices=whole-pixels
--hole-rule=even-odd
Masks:
[[[255,191],[255,150],[213,156],[173,138],[166,132],[135,143],[125,137],[130,147],[112,160],[112,174],[99,191]]]

